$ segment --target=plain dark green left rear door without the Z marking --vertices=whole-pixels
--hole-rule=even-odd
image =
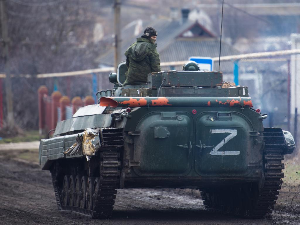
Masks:
[[[134,171],[140,176],[184,176],[191,169],[193,119],[184,112],[154,112],[134,137]]]

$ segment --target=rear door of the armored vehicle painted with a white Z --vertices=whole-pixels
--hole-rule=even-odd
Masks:
[[[239,176],[251,152],[249,122],[229,111],[206,112],[196,119],[195,170],[201,176]]]

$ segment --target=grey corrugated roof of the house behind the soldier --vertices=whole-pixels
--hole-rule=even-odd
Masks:
[[[190,56],[217,57],[219,55],[220,41],[217,38],[177,38],[182,32],[193,26],[195,23],[197,22],[190,20],[183,23],[182,21],[157,19],[154,22],[147,24],[147,26],[154,27],[158,32],[156,44],[161,62],[184,61],[188,60]],[[136,41],[137,37],[133,36],[133,34],[134,27],[122,30],[121,38],[123,41],[119,55],[120,61],[126,60],[124,52],[132,43],[134,43],[134,41]],[[234,49],[229,44],[222,43],[222,56],[236,54],[239,54],[238,50]],[[110,49],[106,54],[97,58],[96,61],[100,64],[113,65],[114,49]],[[164,69],[166,69],[166,67],[164,67]],[[178,69],[178,67],[176,67],[176,69]],[[218,63],[215,63],[214,70],[217,69]],[[220,69],[223,72],[232,73],[233,63],[221,62]]]

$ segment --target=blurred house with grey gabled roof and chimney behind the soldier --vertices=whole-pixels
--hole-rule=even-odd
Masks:
[[[213,32],[205,28],[201,21],[189,20],[189,10],[182,10],[181,19],[157,18],[152,22],[147,22],[140,29],[137,35],[137,26],[126,26],[121,33],[121,52],[119,58],[121,61],[126,60],[124,52],[136,41],[137,37],[143,35],[143,29],[150,26],[158,32],[157,50],[160,54],[161,62],[169,61],[188,61],[191,56],[217,57],[220,50],[220,39]],[[140,23],[136,23],[141,28]],[[222,42],[221,55],[237,55],[238,50],[234,49],[226,42]],[[100,67],[113,66],[114,49],[111,48],[107,53],[99,56],[96,62]],[[181,70],[182,66],[170,67],[164,66],[162,70],[177,69]],[[214,64],[214,70],[218,70],[218,64]],[[223,73],[233,72],[232,62],[221,62],[220,70]]]

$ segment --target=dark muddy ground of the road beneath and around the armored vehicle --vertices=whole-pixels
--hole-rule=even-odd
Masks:
[[[291,208],[291,199],[300,190],[297,171],[295,177],[284,180],[271,219],[205,211],[196,190],[124,189],[118,190],[111,219],[88,220],[58,212],[49,171],[3,152],[0,155],[0,224],[300,224],[300,195]],[[295,161],[286,164],[294,174]]]

